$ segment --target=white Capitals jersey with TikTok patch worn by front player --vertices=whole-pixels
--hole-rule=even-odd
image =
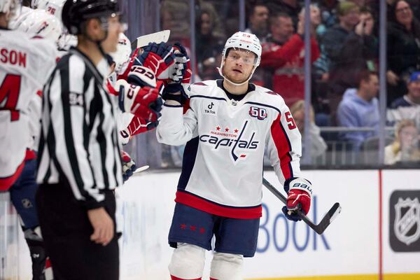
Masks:
[[[279,94],[250,85],[240,101],[222,80],[190,85],[190,108],[165,104],[158,141],[186,148],[176,202],[231,218],[258,218],[265,150],[279,177],[300,177],[300,133]]]

